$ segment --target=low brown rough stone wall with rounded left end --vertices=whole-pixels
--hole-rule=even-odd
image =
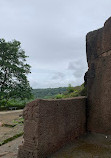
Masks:
[[[46,158],[86,132],[86,98],[35,100],[24,109],[18,158]]]

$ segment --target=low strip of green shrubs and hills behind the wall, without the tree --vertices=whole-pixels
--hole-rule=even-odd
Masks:
[[[34,99],[62,99],[62,98],[73,98],[77,96],[85,96],[86,89],[84,84],[81,86],[72,87],[59,87],[59,88],[46,88],[46,89],[33,89],[32,93],[34,95],[30,100],[24,99],[12,99],[8,101],[5,99],[0,101],[0,111],[9,110],[10,107],[16,107],[17,109],[22,109],[25,107],[26,103],[31,102]]]

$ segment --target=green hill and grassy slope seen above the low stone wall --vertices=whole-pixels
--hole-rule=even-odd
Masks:
[[[37,99],[61,99],[85,96],[86,89],[84,88],[84,84],[82,84],[76,87],[69,85],[69,87],[33,89],[32,93]]]

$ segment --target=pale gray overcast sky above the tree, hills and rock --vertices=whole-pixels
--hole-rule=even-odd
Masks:
[[[83,83],[85,36],[111,16],[111,0],[0,0],[0,38],[19,40],[33,88]]]

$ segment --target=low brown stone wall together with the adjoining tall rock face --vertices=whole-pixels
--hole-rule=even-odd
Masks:
[[[46,158],[86,132],[111,134],[111,18],[87,34],[86,53],[87,99],[29,103],[18,158]]]

